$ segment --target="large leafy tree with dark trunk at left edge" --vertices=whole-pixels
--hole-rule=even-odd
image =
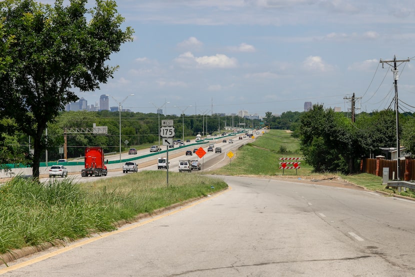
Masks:
[[[90,91],[112,77],[105,62],[133,30],[120,28],[124,18],[113,0],[33,0],[0,2],[0,113],[14,118],[19,131],[32,137],[33,177],[47,141],[44,130],[64,105],[76,101],[74,88]]]

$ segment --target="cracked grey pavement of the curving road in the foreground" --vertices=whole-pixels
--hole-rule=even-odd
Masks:
[[[4,276],[413,276],[415,204],[223,176],[230,188],[0,266]]]

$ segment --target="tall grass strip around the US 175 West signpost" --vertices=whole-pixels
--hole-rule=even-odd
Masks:
[[[25,246],[77,239],[110,231],[119,220],[206,196],[225,182],[199,174],[142,171],[120,177],[75,183],[48,183],[16,177],[0,186],[0,253]]]

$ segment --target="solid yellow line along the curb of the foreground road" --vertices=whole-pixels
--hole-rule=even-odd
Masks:
[[[195,206],[195,205],[198,205],[198,204],[200,204],[200,203],[202,203],[202,202],[204,202],[204,201],[207,201],[207,200],[209,200],[209,199],[212,199],[212,198],[214,198],[214,197],[217,197],[217,196],[219,196],[219,195],[223,194],[224,192],[226,192],[226,191],[228,191],[228,190],[230,190],[230,189],[232,189],[232,188],[231,188],[230,186],[228,186],[228,189],[226,189],[226,190],[223,190],[223,191],[221,191],[221,192],[219,192],[219,193],[216,193],[216,194],[214,194],[214,195],[212,195],[212,196],[210,196],[210,197],[205,197],[205,198],[200,199],[200,200],[198,200],[198,201],[192,202],[192,203],[190,203],[190,204],[188,204],[188,205],[182,206],[182,207],[180,207],[180,208],[178,208],[178,209],[175,209],[175,210],[172,210],[172,211],[170,211],[170,212],[163,213],[163,214],[157,215],[157,216],[155,216],[155,217],[149,218],[149,219],[147,219],[147,220],[144,220],[144,221],[142,221],[142,222],[133,223],[133,224],[131,224],[130,226],[127,226],[127,227],[125,227],[125,228],[121,228],[121,229],[118,229],[118,230],[115,230],[115,231],[112,231],[112,232],[103,233],[103,234],[100,234],[99,236],[96,236],[96,237],[91,237],[91,238],[88,238],[88,239],[86,239],[86,240],[80,241],[80,242],[78,242],[78,243],[74,243],[74,244],[71,244],[71,245],[69,245],[69,246],[65,246],[65,247],[63,247],[63,248],[61,248],[61,249],[57,249],[57,250],[55,250],[55,251],[53,251],[53,252],[50,252],[50,253],[47,253],[47,254],[41,255],[41,256],[39,256],[39,257],[35,257],[35,258],[30,259],[30,260],[23,261],[23,262],[20,262],[20,263],[17,263],[17,264],[14,264],[14,265],[11,265],[11,266],[8,266],[8,267],[5,267],[5,268],[3,268],[3,269],[0,269],[0,275],[1,275],[1,274],[4,274],[4,273],[6,273],[6,272],[9,272],[9,271],[15,270],[15,269],[19,269],[19,268],[25,267],[25,266],[27,266],[27,265],[30,265],[30,264],[33,264],[33,263],[36,263],[36,262],[42,261],[42,260],[44,260],[44,259],[47,259],[47,258],[50,258],[50,257],[56,256],[56,255],[58,255],[58,254],[60,254],[60,253],[67,252],[67,251],[72,250],[72,249],[74,249],[74,248],[77,248],[77,247],[83,246],[83,245],[85,245],[85,244],[91,243],[91,242],[93,242],[93,241],[95,241],[95,240],[98,240],[98,239],[101,239],[101,238],[104,238],[104,237],[107,237],[107,236],[110,236],[110,235],[113,235],[113,234],[117,234],[117,233],[120,233],[120,232],[124,232],[124,231],[127,231],[127,230],[131,230],[131,229],[133,229],[133,228],[136,228],[136,227],[142,226],[142,225],[144,225],[144,224],[147,224],[147,223],[153,222],[153,221],[155,221],[155,220],[158,220],[158,219],[164,218],[164,217],[169,216],[169,215],[171,215],[171,214],[174,214],[174,213],[176,213],[176,212],[179,212],[179,211],[185,210],[185,209],[187,209],[187,208],[190,208],[190,207],[193,207],[193,206]]]

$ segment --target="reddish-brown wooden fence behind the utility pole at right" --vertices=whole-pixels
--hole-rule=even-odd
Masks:
[[[389,180],[396,178],[396,160],[377,158],[363,158],[360,160],[360,172],[366,172],[376,176],[383,176],[383,167],[389,167]],[[394,176],[393,176],[394,174]],[[415,180],[415,160],[406,157],[399,161],[399,179]]]

